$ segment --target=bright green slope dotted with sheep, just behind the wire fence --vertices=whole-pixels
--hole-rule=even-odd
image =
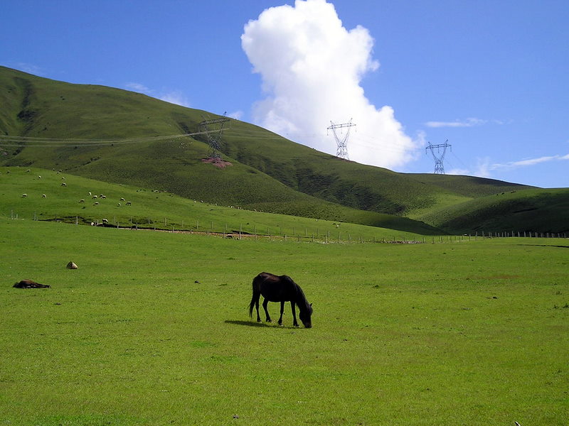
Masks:
[[[92,198],[94,195],[96,199]],[[352,211],[339,204],[330,204],[328,209],[322,207],[326,203],[315,204],[313,213],[321,214],[321,219],[316,220],[208,204],[154,188],[111,184],[38,168],[0,167],[0,200],[1,217],[28,220],[58,219],[88,224],[107,219],[113,226],[135,225],[151,229],[174,226],[176,230],[218,233],[241,230],[248,234],[301,236],[307,240],[313,235],[317,240],[328,235],[334,241],[339,238],[344,241],[360,238],[400,240],[441,234],[422,222],[376,212]],[[360,223],[371,222],[373,226],[339,222],[336,217],[355,217]]]

